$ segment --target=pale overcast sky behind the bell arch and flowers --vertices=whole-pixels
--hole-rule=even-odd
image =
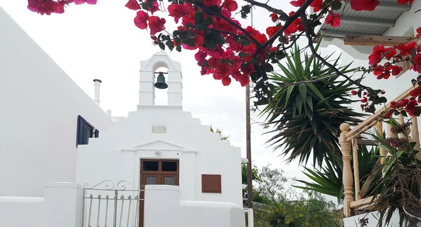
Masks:
[[[125,8],[125,4],[126,0],[99,0],[96,6],[72,5],[64,14],[41,16],[27,10],[25,0],[0,0],[0,6],[88,95],[93,97],[93,79],[102,80],[100,106],[104,110],[111,109],[113,116],[127,116],[128,111],[135,111],[139,62],[159,51],[158,46],[152,45],[149,33],[135,27],[135,11]],[[294,10],[286,0],[272,0],[269,4],[286,13]],[[174,22],[167,19],[166,27],[171,31]],[[250,18],[239,19],[243,27],[250,25]],[[272,25],[269,14],[255,11],[254,25],[265,31]],[[240,146],[246,157],[245,88],[234,81],[224,87],[210,75],[201,76],[194,53],[194,50],[169,53],[173,60],[182,64],[183,108],[200,118],[204,125],[223,130],[230,136],[232,145]],[[157,104],[166,102],[166,93],[159,92],[157,96]],[[264,121],[254,113],[252,118]],[[265,130],[257,123],[252,125],[255,165],[272,163],[288,177],[305,178],[298,163],[287,166],[283,158],[278,157],[281,151],[267,148],[265,142],[269,136],[262,135],[263,132]]]

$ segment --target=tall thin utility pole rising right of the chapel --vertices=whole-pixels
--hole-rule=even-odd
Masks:
[[[253,27],[253,8],[251,8],[251,27]],[[251,174],[251,124],[250,124],[250,84],[246,86],[246,153],[247,153],[247,216],[248,227],[254,227],[253,217],[253,177]]]

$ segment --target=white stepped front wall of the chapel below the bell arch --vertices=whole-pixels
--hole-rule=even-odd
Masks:
[[[167,133],[152,133],[152,125],[165,125]],[[131,112],[100,138],[79,146],[76,182],[93,186],[107,179],[126,180],[139,186],[141,158],[180,160],[182,200],[242,205],[240,149],[220,140],[189,112],[170,106]],[[222,193],[201,193],[201,174],[221,174]]]

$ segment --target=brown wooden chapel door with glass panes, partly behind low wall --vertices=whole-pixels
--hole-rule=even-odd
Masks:
[[[178,160],[140,160],[140,189],[144,190],[147,184],[179,185],[180,163]],[[143,227],[145,192],[140,191],[139,226]]]

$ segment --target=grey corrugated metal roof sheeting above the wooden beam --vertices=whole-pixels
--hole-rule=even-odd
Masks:
[[[382,35],[399,16],[410,9],[409,5],[399,5],[396,0],[380,0],[375,11],[354,11],[349,6],[349,1],[342,4],[342,8],[335,13],[340,13],[342,18],[339,27],[321,25],[320,33],[326,37],[344,37],[345,35]]]

